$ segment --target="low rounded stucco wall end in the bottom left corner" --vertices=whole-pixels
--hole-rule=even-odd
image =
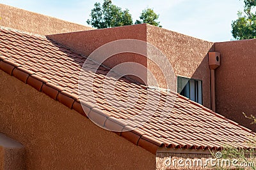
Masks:
[[[0,169],[26,169],[24,146],[0,133]]]

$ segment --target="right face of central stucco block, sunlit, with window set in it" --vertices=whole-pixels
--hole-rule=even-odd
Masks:
[[[210,108],[211,85],[207,55],[209,51],[214,50],[213,43],[152,25],[147,25],[147,42],[159,48],[166,55],[177,76],[203,81],[203,104]],[[159,72],[154,64],[148,64],[148,68]]]

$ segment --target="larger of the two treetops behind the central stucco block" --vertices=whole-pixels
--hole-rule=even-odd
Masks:
[[[98,29],[132,25],[132,17],[129,10],[122,11],[120,7],[112,4],[111,0],[104,0],[102,6],[100,6],[100,3],[95,3],[90,17],[87,20],[87,24]]]

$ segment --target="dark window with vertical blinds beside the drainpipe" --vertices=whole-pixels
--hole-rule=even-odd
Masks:
[[[178,76],[178,93],[191,101],[203,104],[202,81]]]

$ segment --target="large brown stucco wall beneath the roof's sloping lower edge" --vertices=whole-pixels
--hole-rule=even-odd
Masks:
[[[156,156],[0,71],[0,132],[27,169],[156,169]]]

